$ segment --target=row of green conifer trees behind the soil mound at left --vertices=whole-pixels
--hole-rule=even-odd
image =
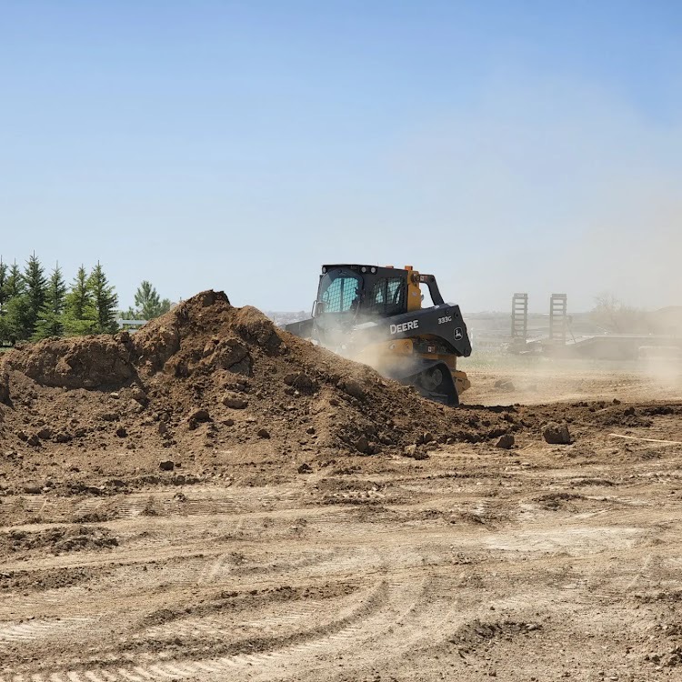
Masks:
[[[114,334],[116,318],[152,319],[170,309],[146,280],[135,294],[135,308],[118,312],[118,296],[98,262],[80,266],[66,284],[59,264],[47,273],[35,254],[22,268],[0,257],[0,346],[50,336]]]

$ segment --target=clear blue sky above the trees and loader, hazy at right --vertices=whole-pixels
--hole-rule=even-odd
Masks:
[[[0,0],[0,93],[0,253],[123,306],[307,308],[328,262],[682,304],[678,2]]]

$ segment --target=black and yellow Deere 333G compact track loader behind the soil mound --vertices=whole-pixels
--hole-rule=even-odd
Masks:
[[[422,307],[422,288],[433,306]],[[471,384],[456,368],[471,355],[459,306],[445,303],[436,277],[411,266],[322,266],[312,317],[286,330],[457,405]]]

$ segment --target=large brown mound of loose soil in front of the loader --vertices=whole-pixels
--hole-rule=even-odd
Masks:
[[[236,476],[230,466],[250,466],[253,476],[262,463],[295,473],[316,457],[401,455],[412,444],[476,442],[514,428],[501,411],[426,401],[215,291],[135,334],[15,348],[1,361],[0,386],[5,489],[21,481],[36,493]]]

